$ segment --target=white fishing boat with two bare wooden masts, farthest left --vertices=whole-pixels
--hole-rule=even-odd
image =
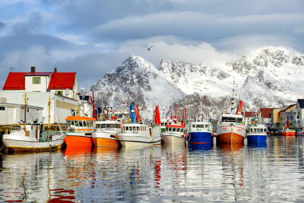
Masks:
[[[60,149],[66,134],[61,130],[53,131],[50,127],[50,116],[48,130],[41,130],[39,123],[26,123],[27,98],[25,93],[24,124],[23,127],[13,128],[9,134],[4,134],[2,141],[9,151],[42,151]],[[49,97],[49,115],[51,98]],[[54,113],[55,114],[55,113]],[[22,125],[21,125],[22,126]]]

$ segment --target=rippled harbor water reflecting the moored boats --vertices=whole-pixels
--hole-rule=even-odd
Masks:
[[[0,155],[0,202],[304,202],[304,136]]]

